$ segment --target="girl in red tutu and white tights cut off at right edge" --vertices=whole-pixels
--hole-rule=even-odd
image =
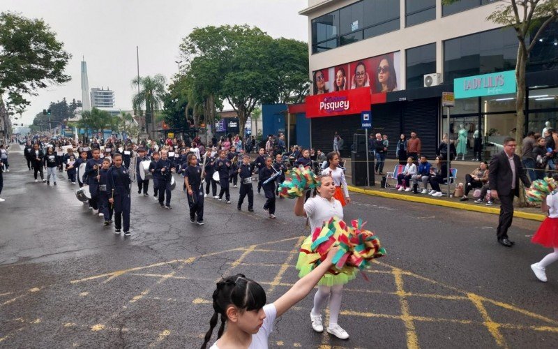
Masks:
[[[548,212],[548,217],[538,227],[531,242],[554,248],[554,252],[545,255],[540,262],[532,264],[531,269],[537,279],[546,282],[545,268],[558,260],[558,191],[553,191],[546,196],[541,204],[541,210]]]

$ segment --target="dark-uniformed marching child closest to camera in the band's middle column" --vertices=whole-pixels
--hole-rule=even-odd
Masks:
[[[202,168],[197,165],[197,155],[188,154],[188,166],[183,170],[184,185],[188,190],[190,222],[204,224],[204,188],[202,186]],[[197,220],[196,220],[197,216]]]

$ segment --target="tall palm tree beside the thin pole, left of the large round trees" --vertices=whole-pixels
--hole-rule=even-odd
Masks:
[[[151,124],[151,137],[155,137],[155,110],[159,110],[163,103],[163,95],[165,94],[165,77],[156,74],[153,77],[136,77],[132,80],[132,86],[140,85],[140,92],[132,98],[135,110],[141,110],[142,105],[145,106],[145,123],[146,130],[149,130]]]

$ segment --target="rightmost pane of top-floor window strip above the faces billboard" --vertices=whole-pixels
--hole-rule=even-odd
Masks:
[[[400,29],[399,0],[365,0],[364,38],[378,36]]]

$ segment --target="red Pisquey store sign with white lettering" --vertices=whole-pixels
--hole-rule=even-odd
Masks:
[[[361,114],[363,110],[370,110],[370,102],[369,87],[308,96],[306,97],[306,117]]]

